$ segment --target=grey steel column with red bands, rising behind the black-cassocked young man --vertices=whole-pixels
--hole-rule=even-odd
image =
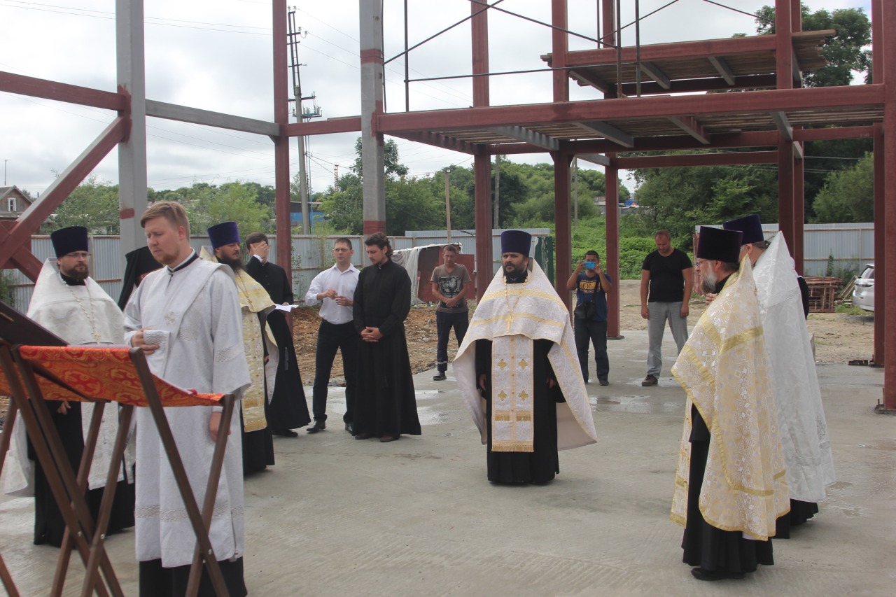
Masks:
[[[383,134],[375,118],[383,113],[383,11],[380,0],[360,1],[361,24],[361,168],[364,234],[386,231]]]

